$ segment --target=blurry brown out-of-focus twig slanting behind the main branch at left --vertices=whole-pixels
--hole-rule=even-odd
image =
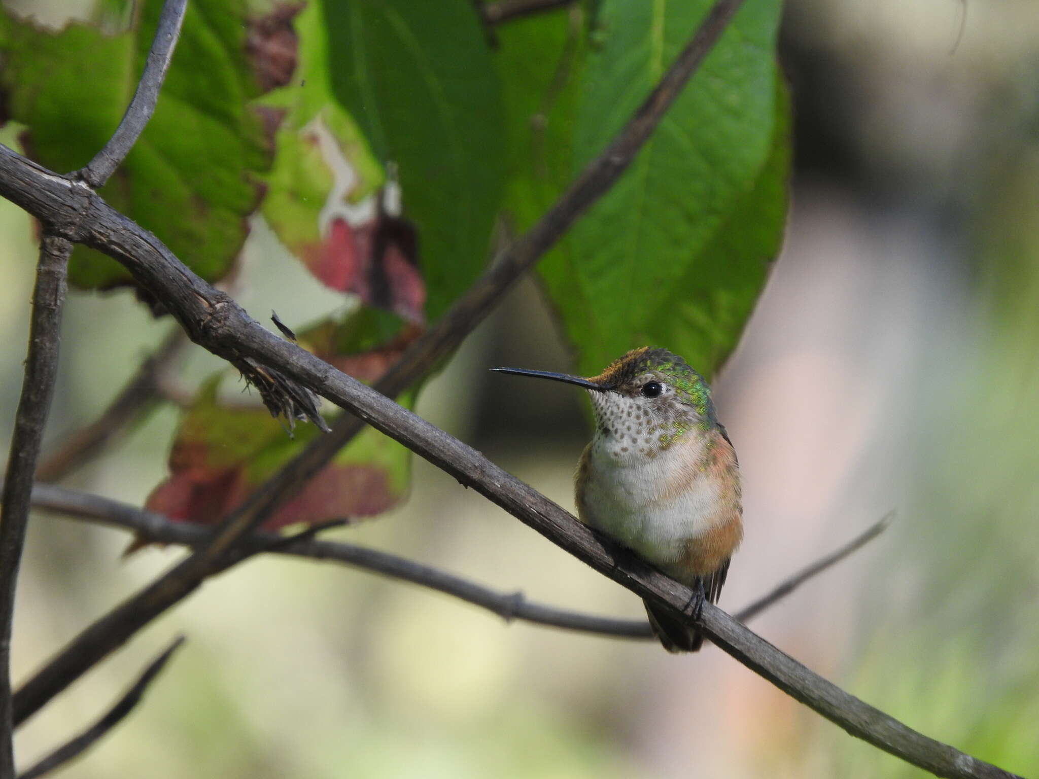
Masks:
[[[36,468],[36,480],[60,481],[129,429],[163,396],[162,374],[188,344],[184,330],[176,327],[150,354],[108,407],[84,428],[63,440],[54,454]]]

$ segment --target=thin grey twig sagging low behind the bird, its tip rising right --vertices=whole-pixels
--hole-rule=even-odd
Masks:
[[[77,519],[114,525],[117,528],[133,531],[137,536],[156,543],[196,546],[212,536],[212,530],[203,526],[175,522],[161,514],[138,509],[119,501],[51,484],[36,484],[32,490],[32,505],[36,509],[59,512],[64,516]],[[890,523],[890,516],[888,514],[845,545],[788,577],[768,594],[732,616],[740,622],[746,622],[756,617],[812,576],[822,573],[879,536]],[[316,540],[310,537],[316,532],[332,527],[336,527],[336,522],[315,526],[313,530],[304,531],[304,534],[288,538],[274,533],[252,533],[243,539],[243,545],[250,552],[261,550],[312,560],[331,560],[354,568],[381,573],[390,579],[410,582],[487,609],[507,621],[518,619],[535,624],[613,638],[655,640],[649,623],[644,619],[596,617],[582,612],[534,603],[528,601],[522,592],[499,592],[462,576],[397,555],[355,544]]]

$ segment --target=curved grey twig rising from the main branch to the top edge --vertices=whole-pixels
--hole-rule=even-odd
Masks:
[[[187,5],[188,0],[166,0],[163,4],[144,71],[141,73],[140,81],[137,82],[133,100],[123,114],[123,120],[119,122],[119,126],[105,147],[98,152],[87,166],[78,173],[79,179],[94,189],[108,181],[108,177],[130,154],[144,126],[152,118],[155,105],[159,101],[159,90],[166,78],[166,70],[174,57],[177,38],[181,34]]]

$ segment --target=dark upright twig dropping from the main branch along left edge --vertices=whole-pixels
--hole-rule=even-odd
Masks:
[[[15,775],[10,684],[10,635],[15,590],[29,519],[33,473],[44,426],[54,397],[61,344],[61,312],[72,244],[45,233],[32,293],[29,353],[10,439],[7,473],[0,501],[0,777]]]

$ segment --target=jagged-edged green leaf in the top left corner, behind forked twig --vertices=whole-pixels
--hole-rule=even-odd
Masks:
[[[2,85],[11,118],[28,126],[27,151],[59,171],[86,164],[133,96],[162,2],[148,0],[133,29],[107,36],[70,25],[57,33],[5,19]],[[155,116],[102,190],[116,209],[159,236],[214,280],[245,240],[258,206],[255,174],[271,144],[248,105],[261,89],[247,52],[244,0],[193,0]],[[70,278],[107,288],[128,280],[112,260],[77,247]]]

